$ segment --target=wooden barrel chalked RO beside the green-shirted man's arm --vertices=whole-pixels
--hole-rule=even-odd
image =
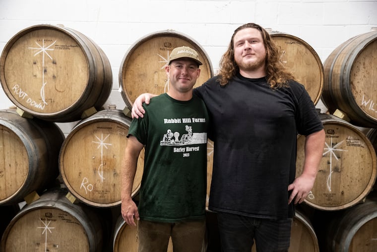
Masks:
[[[121,204],[121,169],[131,119],[121,110],[101,110],[78,122],[63,142],[59,168],[68,190],[95,207]],[[144,165],[141,151],[132,196],[140,187]]]

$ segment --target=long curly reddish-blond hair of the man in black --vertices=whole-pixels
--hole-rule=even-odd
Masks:
[[[239,71],[235,59],[234,59],[234,36],[237,32],[246,28],[255,28],[260,31],[264,48],[266,50],[266,59],[265,59],[265,72],[266,79],[271,88],[278,88],[283,86],[288,86],[288,80],[295,80],[295,77],[292,73],[288,72],[283,63],[280,60],[281,52],[280,48],[273,43],[269,33],[263,29],[260,25],[255,23],[247,23],[238,27],[229,43],[228,50],[224,53],[220,61],[220,71],[219,79],[221,85],[228,84],[229,80],[233,78]]]

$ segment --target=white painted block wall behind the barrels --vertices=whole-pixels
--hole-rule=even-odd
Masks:
[[[376,11],[377,0],[0,0],[0,51],[32,25],[75,29],[109,58],[114,77],[108,103],[124,108],[119,69],[128,48],[149,33],[173,29],[188,35],[216,72],[234,29],[255,22],[303,39],[323,63],[338,45],[377,27]],[[0,109],[11,105],[0,89]],[[320,102],[317,107],[323,109]],[[71,124],[61,125],[68,133]]]

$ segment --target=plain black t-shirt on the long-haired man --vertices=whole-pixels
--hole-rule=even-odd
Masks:
[[[194,89],[208,109],[214,141],[209,209],[259,218],[294,215],[288,185],[296,172],[297,134],[323,128],[302,84],[271,89],[240,74]]]

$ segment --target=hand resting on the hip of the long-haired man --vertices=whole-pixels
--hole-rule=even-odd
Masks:
[[[293,183],[288,186],[288,191],[292,190],[291,196],[288,199],[288,204],[291,204],[293,200],[295,204],[302,203],[312,190],[314,180],[315,177],[306,176],[305,174],[296,177]]]

